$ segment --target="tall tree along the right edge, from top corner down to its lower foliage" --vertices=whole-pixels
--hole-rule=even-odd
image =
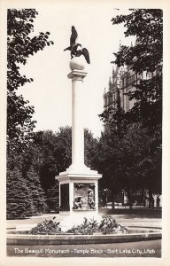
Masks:
[[[147,156],[139,165],[149,191],[161,192],[163,12],[160,9],[131,10],[127,16],[113,18],[112,23],[124,23],[125,36],[136,36],[134,47],[122,46],[115,53],[115,63],[127,64],[136,74],[148,75],[135,85],[135,91],[129,91],[128,97],[135,99],[135,106],[126,115],[128,121],[141,121],[151,137]]]

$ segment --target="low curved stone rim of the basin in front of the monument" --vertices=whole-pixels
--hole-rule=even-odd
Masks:
[[[130,228],[129,233],[103,235],[27,235],[11,231],[7,235],[7,245],[84,245],[84,244],[109,244],[120,242],[134,242],[161,239],[160,228]]]

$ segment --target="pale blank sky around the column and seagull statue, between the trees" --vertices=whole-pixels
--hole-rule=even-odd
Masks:
[[[128,10],[115,9],[114,5],[64,5],[48,4],[36,8],[39,13],[34,21],[34,33],[50,32],[54,45],[38,51],[27,59],[27,65],[21,66],[20,73],[32,77],[34,82],[21,87],[19,94],[35,106],[35,130],[71,126],[71,80],[67,74],[70,52],[63,51],[69,46],[71,27],[78,33],[77,42],[89,50],[90,65],[85,67],[88,75],[83,82],[84,128],[89,129],[94,137],[100,137],[103,122],[98,114],[104,111],[104,88],[108,90],[109,76],[112,75],[111,61],[113,52],[122,44],[130,45],[134,37],[124,36],[122,25],[112,26],[112,17]]]

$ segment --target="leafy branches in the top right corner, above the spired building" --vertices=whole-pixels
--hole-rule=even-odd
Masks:
[[[125,63],[136,73],[162,71],[163,12],[160,9],[134,9],[128,15],[116,16],[112,24],[124,23],[125,36],[136,35],[134,47],[123,46],[115,63]]]

